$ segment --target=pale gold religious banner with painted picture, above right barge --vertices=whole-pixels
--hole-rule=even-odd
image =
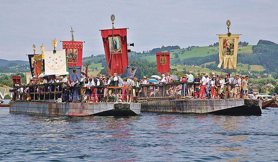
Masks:
[[[227,68],[229,60],[229,69],[237,66],[238,56],[238,39],[239,34],[219,34],[219,64],[218,68],[221,68],[224,62],[224,68]],[[233,66],[234,65],[234,66]]]

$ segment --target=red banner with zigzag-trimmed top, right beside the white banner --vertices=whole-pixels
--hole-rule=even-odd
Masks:
[[[82,70],[83,42],[63,41],[62,44],[68,59],[68,66],[81,66]]]

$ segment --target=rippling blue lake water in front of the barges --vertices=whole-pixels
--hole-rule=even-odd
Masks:
[[[278,108],[262,116],[50,117],[0,108],[0,161],[278,161]]]

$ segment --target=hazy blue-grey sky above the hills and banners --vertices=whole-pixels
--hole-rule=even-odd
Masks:
[[[83,57],[104,54],[99,29],[127,30],[132,51],[179,45],[208,46],[218,42],[216,34],[242,34],[239,41],[257,44],[260,39],[278,43],[277,0],[0,0],[0,59],[28,60],[42,43],[53,49],[52,41],[85,41]],[[58,42],[56,49],[62,49]]]

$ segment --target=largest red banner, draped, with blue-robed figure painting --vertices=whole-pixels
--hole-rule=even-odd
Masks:
[[[124,74],[124,68],[128,66],[126,29],[114,29],[113,32],[112,29],[101,30],[109,74],[111,69],[112,74]]]

